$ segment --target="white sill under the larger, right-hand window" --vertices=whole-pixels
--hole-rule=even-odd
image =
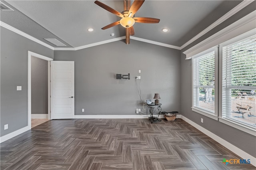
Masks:
[[[242,125],[240,123],[236,123],[236,122],[231,121],[231,120],[229,120],[227,118],[221,118],[221,117],[219,117],[219,118],[220,118],[219,121],[221,123],[224,123],[224,124],[229,125],[231,127],[234,127],[234,128],[239,129],[239,130],[242,130],[243,132],[246,132],[246,133],[249,133],[249,134],[251,134],[253,136],[256,136],[256,128],[252,128],[252,127],[248,127],[246,125]]]

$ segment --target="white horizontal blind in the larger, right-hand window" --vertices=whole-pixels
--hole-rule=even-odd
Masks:
[[[256,127],[256,37],[222,47],[222,117]]]

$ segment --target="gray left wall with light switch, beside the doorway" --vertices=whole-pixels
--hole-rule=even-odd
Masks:
[[[28,51],[53,58],[53,50],[1,27],[0,135],[28,125]],[[22,86],[22,91],[16,91]],[[4,125],[8,129],[4,130]]]

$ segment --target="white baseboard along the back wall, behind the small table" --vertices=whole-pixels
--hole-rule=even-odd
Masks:
[[[75,115],[75,119],[148,119],[148,117],[149,115]],[[164,118],[164,115],[159,115],[159,118]]]

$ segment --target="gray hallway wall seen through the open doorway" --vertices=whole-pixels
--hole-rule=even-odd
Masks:
[[[48,114],[48,61],[31,57],[31,114]]]

